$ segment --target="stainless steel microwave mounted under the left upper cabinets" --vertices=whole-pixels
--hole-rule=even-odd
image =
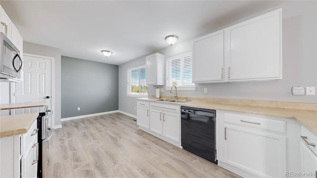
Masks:
[[[0,32],[0,79],[21,78],[21,69],[19,49]]]

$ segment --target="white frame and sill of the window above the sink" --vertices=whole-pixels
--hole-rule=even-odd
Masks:
[[[183,83],[183,76],[184,76],[184,72],[183,72],[183,67],[184,67],[184,57],[191,55],[192,56],[192,67],[193,67],[193,55],[192,55],[192,51],[188,51],[188,52],[184,52],[181,54],[177,54],[174,56],[170,56],[170,57],[166,57],[166,80],[165,80],[165,90],[171,90],[172,86],[169,85],[169,61],[170,60],[174,60],[174,59],[181,59],[181,83]],[[193,68],[192,68],[193,71]],[[187,85],[176,85],[177,90],[196,90],[196,85],[194,83],[192,84],[187,84]]]

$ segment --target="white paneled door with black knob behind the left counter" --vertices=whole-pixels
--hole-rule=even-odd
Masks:
[[[51,109],[51,59],[24,54],[22,80],[16,84],[16,102],[45,101]]]

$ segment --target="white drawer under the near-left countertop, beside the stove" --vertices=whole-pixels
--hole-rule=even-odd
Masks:
[[[26,134],[22,134],[21,136],[21,155],[23,155],[27,150],[28,147],[34,142],[38,142],[38,129],[37,129],[37,121],[32,124],[31,128]]]

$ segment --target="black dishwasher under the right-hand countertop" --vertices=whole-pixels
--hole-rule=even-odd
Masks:
[[[215,164],[216,111],[181,106],[182,146]]]

